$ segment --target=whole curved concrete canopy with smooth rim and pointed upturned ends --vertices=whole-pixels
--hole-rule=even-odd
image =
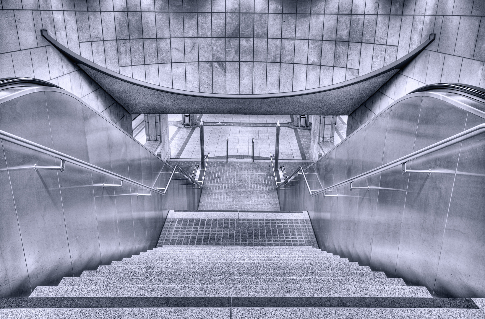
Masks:
[[[129,78],[69,50],[47,30],[41,32],[131,113],[350,114],[435,39],[430,34],[394,63],[338,84],[295,92],[231,95],[190,92]]]

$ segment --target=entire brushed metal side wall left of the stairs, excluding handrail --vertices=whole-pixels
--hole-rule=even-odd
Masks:
[[[171,174],[163,172],[172,167],[79,98],[55,87],[24,93],[0,100],[1,130],[166,187]],[[34,171],[34,164],[61,161],[6,141],[1,146],[1,297],[28,296],[38,285],[153,248],[168,209],[197,209],[200,199],[200,188],[175,181],[165,196],[138,196],[147,191],[129,183],[103,187],[120,180],[70,162],[64,172]]]

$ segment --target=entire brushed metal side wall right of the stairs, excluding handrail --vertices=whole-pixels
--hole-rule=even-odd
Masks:
[[[470,110],[477,100],[464,106],[467,99],[419,92],[395,101],[306,169],[309,182],[320,184],[311,187],[332,186],[484,123]],[[482,134],[407,163],[431,175],[403,175],[394,167],[354,182],[369,190],[332,190],[338,197],[312,197],[295,181],[278,190],[280,206],[308,210],[327,252],[426,286],[435,296],[484,298],[484,151]]]

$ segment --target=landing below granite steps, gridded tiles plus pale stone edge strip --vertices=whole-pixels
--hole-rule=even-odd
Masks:
[[[170,211],[163,245],[318,247],[307,212]]]

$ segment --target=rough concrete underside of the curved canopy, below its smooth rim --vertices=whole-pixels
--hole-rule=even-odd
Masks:
[[[162,90],[163,88],[152,87],[145,82],[115,79],[82,64],[80,67],[129,112],[169,114],[178,112],[188,114],[350,114],[398,71],[398,69],[392,69],[368,80],[357,79],[355,81],[358,83],[354,84],[338,83],[335,84],[336,87],[322,88],[322,92],[318,93],[240,99],[230,96],[220,98],[166,93]],[[160,100],[163,100],[164,103],[160,103]]]

